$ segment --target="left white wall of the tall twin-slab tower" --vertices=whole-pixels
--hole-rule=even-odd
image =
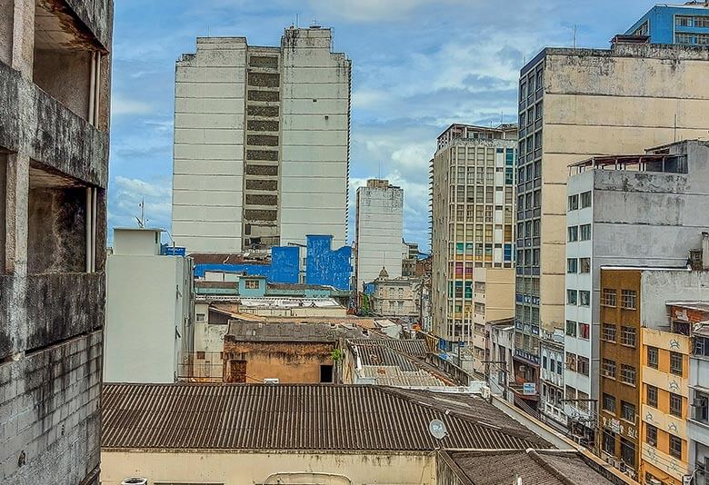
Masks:
[[[244,37],[200,37],[175,68],[173,238],[190,252],[240,252]]]

